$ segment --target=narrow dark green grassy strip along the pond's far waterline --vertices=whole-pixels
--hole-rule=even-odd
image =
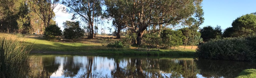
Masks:
[[[129,55],[129,56],[178,56],[178,57],[194,57],[195,52],[190,51],[168,51],[168,52],[162,52],[162,51],[133,51],[133,52],[127,52],[127,51],[111,51],[111,52],[105,52],[100,50],[94,50],[94,52],[72,52],[72,51],[36,51],[32,50],[30,53],[33,54],[71,54],[71,55]]]

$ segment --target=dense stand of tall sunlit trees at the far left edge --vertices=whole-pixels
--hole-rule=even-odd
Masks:
[[[1,0],[0,31],[43,34],[53,20],[59,0]]]

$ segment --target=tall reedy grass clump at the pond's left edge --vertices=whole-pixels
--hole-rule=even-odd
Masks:
[[[0,35],[0,78],[26,78],[32,46],[14,36]]]

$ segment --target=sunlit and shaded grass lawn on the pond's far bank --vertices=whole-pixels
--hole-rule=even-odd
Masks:
[[[4,34],[7,36],[15,37],[15,33]],[[194,56],[196,47],[191,49],[191,46],[180,46],[175,50],[157,50],[150,49],[150,51],[138,50],[136,47],[132,48],[110,48],[105,47],[110,42],[117,39],[101,40],[101,39],[86,39],[81,38],[76,42],[63,42],[63,41],[47,41],[42,38],[42,35],[25,34],[21,37],[24,42],[34,45],[32,52],[46,52],[46,53],[66,53],[66,54],[103,54],[103,55],[177,55],[177,56]]]

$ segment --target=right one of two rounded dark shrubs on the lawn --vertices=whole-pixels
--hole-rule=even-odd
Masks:
[[[78,39],[84,36],[84,30],[80,27],[65,28],[63,36],[67,39]]]

